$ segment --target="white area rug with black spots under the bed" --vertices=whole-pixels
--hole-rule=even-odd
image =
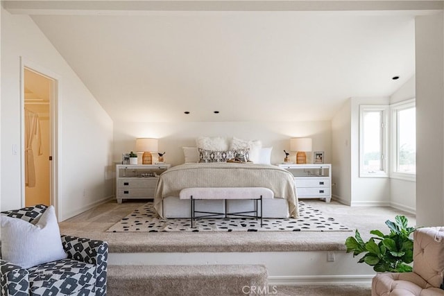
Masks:
[[[107,232],[351,232],[352,229],[326,217],[318,209],[299,202],[299,218],[203,218],[191,220],[157,218],[153,202],[135,209]]]

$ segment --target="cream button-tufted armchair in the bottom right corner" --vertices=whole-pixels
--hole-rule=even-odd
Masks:
[[[444,295],[444,227],[413,232],[413,272],[384,272],[373,277],[372,296]]]

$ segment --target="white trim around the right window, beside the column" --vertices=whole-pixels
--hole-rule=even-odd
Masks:
[[[398,180],[405,181],[416,181],[416,173],[399,173],[395,171],[396,164],[398,162],[397,155],[397,145],[398,143],[398,132],[396,130],[398,126],[397,112],[404,109],[409,109],[411,107],[416,107],[416,98],[411,98],[406,101],[401,101],[399,103],[394,103],[390,105],[390,114],[391,114],[391,143],[390,143],[390,177]]]

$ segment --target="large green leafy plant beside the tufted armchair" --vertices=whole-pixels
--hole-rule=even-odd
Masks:
[[[353,256],[365,253],[358,263],[367,263],[376,272],[411,272],[409,263],[413,262],[413,240],[410,234],[416,228],[407,227],[407,223],[405,216],[396,216],[395,222],[386,220],[390,234],[372,230],[370,234],[374,236],[366,242],[356,230],[355,236],[345,240],[347,252],[353,252]]]

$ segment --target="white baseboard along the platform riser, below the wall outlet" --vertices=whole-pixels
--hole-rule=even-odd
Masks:
[[[371,284],[375,275],[299,275],[268,277],[269,286]]]

